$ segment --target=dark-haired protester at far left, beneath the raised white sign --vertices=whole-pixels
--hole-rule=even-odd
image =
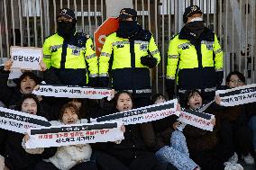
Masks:
[[[8,108],[14,109],[23,95],[32,94],[33,88],[39,83],[39,78],[32,72],[24,72],[18,79],[16,87],[7,87],[0,93],[0,101],[5,103]]]

